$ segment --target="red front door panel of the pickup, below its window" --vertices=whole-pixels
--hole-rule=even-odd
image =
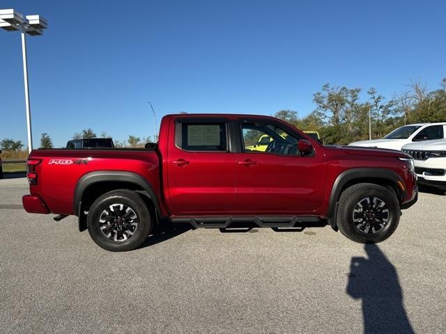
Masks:
[[[237,154],[236,211],[311,213],[321,205],[325,163],[318,157],[286,157],[268,153]]]

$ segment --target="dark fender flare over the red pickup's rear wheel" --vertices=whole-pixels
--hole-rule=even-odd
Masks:
[[[89,188],[92,184],[100,182],[127,182],[136,184],[144,191],[147,191],[148,196],[153,200],[153,205],[155,205],[155,210],[158,214],[162,214],[160,201],[158,199],[153,186],[148,183],[148,181],[137,173],[125,172],[121,170],[95,170],[94,172],[86,173],[77,181],[75,187],[75,193],[73,197],[74,212],[79,213],[80,203],[82,201],[82,196],[84,191]]]

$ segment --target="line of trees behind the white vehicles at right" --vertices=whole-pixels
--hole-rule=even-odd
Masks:
[[[339,145],[369,138],[369,113],[372,139],[401,125],[446,121],[446,78],[436,90],[413,80],[405,88],[386,100],[373,87],[364,96],[361,88],[325,84],[313,95],[316,109],[312,113],[299,118],[297,111],[281,110],[274,116],[299,129],[319,132],[325,144]]]

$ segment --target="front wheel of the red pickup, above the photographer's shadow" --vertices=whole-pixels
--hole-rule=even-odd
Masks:
[[[337,226],[361,244],[384,241],[397,229],[400,208],[395,193],[373,183],[360,183],[341,193]]]

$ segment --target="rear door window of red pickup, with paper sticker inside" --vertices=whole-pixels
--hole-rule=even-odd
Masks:
[[[226,123],[182,122],[176,124],[175,145],[186,151],[228,150]]]

